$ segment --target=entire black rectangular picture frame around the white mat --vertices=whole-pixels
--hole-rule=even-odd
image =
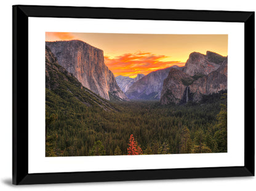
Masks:
[[[28,18],[111,18],[131,20],[244,23],[244,166],[158,170],[28,173]],[[125,9],[106,7],[13,6],[13,184],[138,181],[199,177],[254,176],[255,13],[212,10]]]

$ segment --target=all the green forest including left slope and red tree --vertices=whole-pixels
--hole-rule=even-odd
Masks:
[[[46,47],[46,157],[227,152],[226,90],[164,105],[115,93],[84,87]]]

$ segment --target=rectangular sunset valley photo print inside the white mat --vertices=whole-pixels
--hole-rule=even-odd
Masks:
[[[228,34],[46,33],[46,157],[227,150]]]

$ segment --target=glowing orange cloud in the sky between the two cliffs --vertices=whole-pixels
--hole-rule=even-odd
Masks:
[[[150,52],[126,53],[118,57],[105,56],[105,64],[114,76],[136,77],[137,74],[148,74],[158,69],[170,66],[184,66],[180,61],[168,61],[165,55],[155,55]]]

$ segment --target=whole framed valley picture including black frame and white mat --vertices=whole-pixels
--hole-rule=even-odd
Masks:
[[[254,12],[13,6],[13,184],[254,176]]]

